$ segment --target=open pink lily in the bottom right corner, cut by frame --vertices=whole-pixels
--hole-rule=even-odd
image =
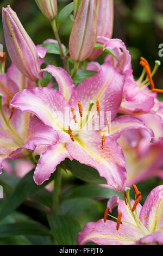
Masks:
[[[135,200],[130,200],[129,188],[124,199],[112,197],[104,219],[87,223],[78,234],[78,245],[95,242],[98,245],[163,245],[163,186],[149,193],[143,206],[141,192],[133,185]],[[109,211],[118,205],[117,223],[106,220]],[[121,224],[122,222],[122,224]]]

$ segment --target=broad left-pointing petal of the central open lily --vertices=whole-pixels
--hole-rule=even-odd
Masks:
[[[57,90],[38,87],[24,89],[17,93],[12,99],[11,106],[21,111],[32,112],[46,125],[55,130],[62,130],[65,107],[68,107],[68,103]]]

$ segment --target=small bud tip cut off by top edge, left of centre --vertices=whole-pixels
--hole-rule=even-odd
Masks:
[[[52,21],[57,17],[57,0],[35,0],[35,2],[48,20]]]

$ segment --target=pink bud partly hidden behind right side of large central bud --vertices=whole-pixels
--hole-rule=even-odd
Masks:
[[[114,23],[114,0],[96,0],[98,36],[112,38]],[[101,41],[97,41],[101,44]],[[102,53],[102,50],[93,50],[89,60],[94,60]]]

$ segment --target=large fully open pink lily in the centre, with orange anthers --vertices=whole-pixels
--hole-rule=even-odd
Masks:
[[[55,77],[59,92],[53,88],[28,88],[17,93],[11,102],[12,107],[34,113],[58,133],[58,143],[49,146],[37,163],[34,174],[36,184],[49,179],[57,165],[67,157],[96,168],[110,186],[121,190],[126,180],[126,170],[116,139],[125,130],[139,128],[153,136],[152,131],[137,118],[124,116],[115,119],[121,105],[124,76],[105,63],[95,76],[86,78],[75,88],[64,69],[49,65],[40,72],[41,77],[45,71]],[[97,102],[97,106],[93,102]],[[70,126],[67,124],[66,127],[63,118],[65,108],[71,109],[68,112]],[[56,111],[60,114],[55,115]],[[98,115],[101,117],[100,111],[110,111],[111,124],[104,120],[102,127],[86,129],[94,115],[95,119]],[[107,124],[114,126],[110,136],[106,135]]]

